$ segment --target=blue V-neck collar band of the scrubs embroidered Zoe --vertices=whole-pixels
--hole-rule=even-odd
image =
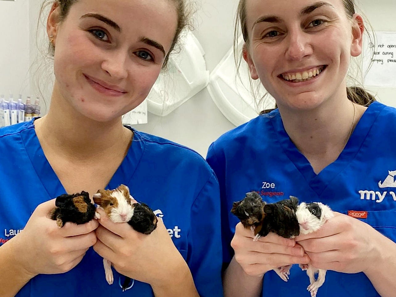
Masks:
[[[365,110],[360,118],[352,135],[348,139],[345,148],[338,156],[337,160],[326,166],[320,173],[316,174],[308,162],[307,158],[297,149],[291,141],[289,135],[283,126],[279,110],[274,110],[270,122],[273,125],[273,137],[278,139],[284,154],[294,164],[295,168],[303,175],[310,187],[320,196],[326,189],[330,181],[337,176],[343,169],[354,160],[356,154],[362,147],[364,140],[369,133],[371,126],[377,119],[377,116],[385,108],[385,105],[379,102],[373,102]]]

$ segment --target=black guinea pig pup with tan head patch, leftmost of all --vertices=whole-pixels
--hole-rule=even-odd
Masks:
[[[66,222],[85,224],[95,217],[95,205],[91,203],[89,194],[82,191],[77,194],[62,194],[55,199],[55,208],[51,211],[51,219],[56,220],[59,228]]]

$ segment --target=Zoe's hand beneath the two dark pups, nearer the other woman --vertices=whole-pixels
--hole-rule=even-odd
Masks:
[[[235,227],[231,246],[235,260],[249,276],[263,276],[269,270],[290,264],[306,264],[309,259],[294,239],[283,238],[270,232],[253,242],[253,232],[242,223]]]

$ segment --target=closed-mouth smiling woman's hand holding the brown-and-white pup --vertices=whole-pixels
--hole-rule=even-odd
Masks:
[[[97,212],[101,219],[93,249],[112,262],[120,274],[159,287],[188,269],[162,219],[152,233],[142,234],[128,223],[111,222],[102,209]]]

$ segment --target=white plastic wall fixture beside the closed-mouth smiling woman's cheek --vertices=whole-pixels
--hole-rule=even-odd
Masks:
[[[181,51],[169,56],[168,70],[161,73],[147,96],[148,111],[166,116],[204,89],[209,82],[204,50],[190,30],[182,32]]]

